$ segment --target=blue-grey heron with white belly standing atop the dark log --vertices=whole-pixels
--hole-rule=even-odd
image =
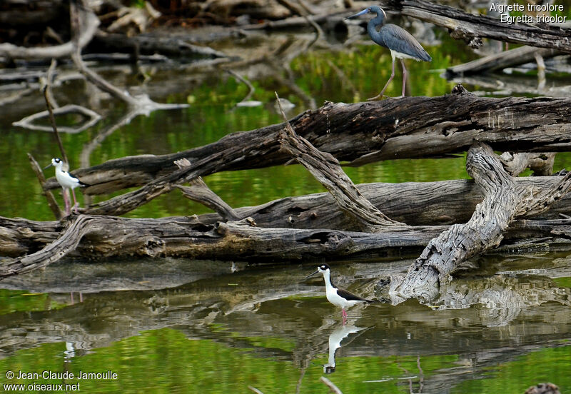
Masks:
[[[368,9],[364,9],[363,11],[360,11],[355,15],[348,16],[345,19],[355,18],[370,12],[377,14],[377,16],[371,19],[367,24],[367,32],[370,39],[375,41],[376,44],[390,49],[390,55],[393,56],[393,72],[390,74],[390,78],[385,84],[383,90],[380,91],[380,94],[369,98],[369,100],[383,98],[383,94],[385,93],[388,84],[390,84],[390,81],[393,81],[395,76],[395,59],[397,58],[400,59],[400,64],[403,65],[403,95],[401,97],[404,97],[407,72],[405,61],[403,59],[432,61],[432,58],[408,31],[397,25],[386,24],[387,14],[385,14],[385,11],[383,11],[380,6],[370,6]],[[377,31],[378,26],[380,26],[380,29]]]

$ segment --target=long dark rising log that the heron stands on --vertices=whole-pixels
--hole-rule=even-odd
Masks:
[[[290,123],[315,148],[331,153],[339,161],[348,161],[351,166],[392,158],[461,153],[473,141],[490,143],[497,151],[571,148],[570,98],[480,98],[463,93],[462,88],[455,92],[433,98],[325,103],[315,111],[301,113]],[[81,168],[74,175],[94,185],[86,188],[86,193],[100,194],[141,186],[171,174],[176,170],[173,162],[180,158],[191,162],[185,176],[191,171],[196,176],[206,176],[217,171],[275,166],[290,161],[288,154],[278,152],[277,137],[283,127],[280,123],[232,133],[180,153],[118,158]],[[46,182],[46,188],[59,188],[55,178]],[[112,210],[98,212],[116,214]]]

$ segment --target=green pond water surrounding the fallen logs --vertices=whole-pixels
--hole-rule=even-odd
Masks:
[[[437,36],[443,44],[427,47],[432,63],[408,62],[409,94],[447,94],[453,84],[441,79],[440,71],[476,57],[447,34]],[[290,62],[290,71],[317,106],[325,100],[362,101],[378,94],[388,79],[390,54],[377,46],[309,51]],[[285,71],[280,72],[285,77]],[[289,116],[308,109],[295,91],[270,74],[256,76],[253,70],[248,73],[256,76],[251,77],[256,87],[251,99],[263,102],[257,108],[234,108],[248,88],[221,71],[157,68],[148,73],[151,80],[144,89],[151,98],[191,106],[133,119],[95,148],[91,165],[129,155],[182,151],[227,133],[278,123],[273,91],[295,103]],[[118,71],[102,74],[119,85],[125,80],[138,84]],[[388,94],[398,96],[400,86],[399,70]],[[56,89],[60,104],[89,106],[86,97],[91,94],[79,80]],[[54,138],[11,126],[43,109],[39,94],[22,105],[0,107],[1,216],[53,219],[26,152],[45,165],[59,156]],[[97,109],[106,116],[103,121],[83,133],[63,136],[72,169],[80,165],[84,145],[126,110],[104,97]],[[438,181],[467,178],[464,166],[465,157],[460,156],[387,161],[345,171],[355,183]],[[555,168],[565,166],[571,168],[571,157],[558,154]],[[51,176],[51,171],[46,175]],[[300,166],[216,173],[205,181],[234,207],[324,191]],[[102,198],[107,197],[95,201]],[[208,208],[173,192],[128,216],[205,212]],[[489,263],[465,280],[490,280],[493,288],[496,272],[537,268],[533,257]],[[526,295],[518,308],[495,309],[480,303],[435,310],[409,301],[350,310],[355,332],[341,342],[335,373],[328,378],[345,394],[523,393],[545,381],[569,392],[571,278],[562,268],[569,263],[565,255],[542,256],[541,263],[545,272],[537,276],[505,275],[505,288]],[[334,268],[341,285],[372,296],[376,277],[405,271],[408,264],[346,262]],[[185,260],[62,261],[45,271],[1,281],[0,384],[79,383],[84,393],[251,393],[248,385],[266,394],[327,393],[319,378],[330,361],[329,340],[346,328],[340,324],[339,311],[326,302],[322,283],[303,280],[314,269],[312,262],[236,268],[231,263]],[[539,301],[532,302],[530,288],[540,291]],[[9,370],[76,375],[110,370],[117,378],[8,380]],[[8,392],[5,387],[1,390]]]

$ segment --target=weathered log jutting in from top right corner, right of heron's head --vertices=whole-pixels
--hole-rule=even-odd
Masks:
[[[443,26],[449,29],[450,36],[454,39],[463,39],[474,46],[479,45],[479,39],[487,38],[524,45],[533,43],[534,46],[571,53],[571,29],[549,25],[506,24],[490,16],[468,14],[451,6],[424,0],[386,0],[381,5],[402,15]]]

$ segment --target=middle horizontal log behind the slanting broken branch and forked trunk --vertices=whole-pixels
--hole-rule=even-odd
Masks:
[[[514,178],[522,187],[550,188],[557,176]],[[360,193],[381,212],[410,226],[438,226],[465,223],[484,198],[474,181],[459,179],[438,182],[364,183]],[[395,198],[398,196],[398,198]],[[261,227],[335,228],[358,231],[355,221],[341,211],[330,193],[285,197],[260,206],[236,208],[241,218],[251,217]],[[571,196],[556,201],[549,211],[534,218],[557,219],[560,213],[571,216]],[[198,216],[201,222],[221,221],[216,213]]]

